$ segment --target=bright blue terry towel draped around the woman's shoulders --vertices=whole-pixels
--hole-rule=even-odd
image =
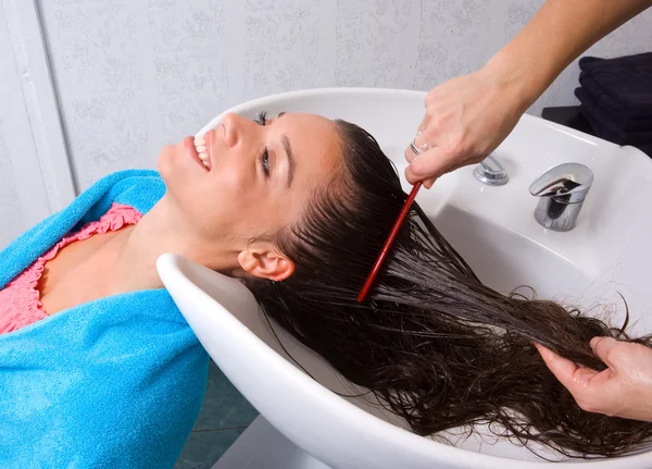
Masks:
[[[0,288],[112,202],[146,213],[164,193],[153,171],[99,181],[0,252]],[[208,362],[163,288],[0,335],[0,468],[172,468],[199,414]]]

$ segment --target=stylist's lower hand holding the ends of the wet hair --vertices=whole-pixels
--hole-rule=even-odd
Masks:
[[[652,421],[652,349],[649,347],[593,337],[593,353],[609,367],[598,372],[535,345],[550,371],[584,410]]]

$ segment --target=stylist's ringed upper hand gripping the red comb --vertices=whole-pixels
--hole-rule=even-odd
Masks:
[[[529,104],[522,83],[505,76],[490,63],[428,92],[415,144],[431,149],[417,157],[408,147],[408,182],[430,188],[442,174],[479,163],[505,139]]]

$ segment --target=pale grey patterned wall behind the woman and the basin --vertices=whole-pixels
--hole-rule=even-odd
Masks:
[[[542,3],[37,0],[80,189],[112,171],[152,168],[164,144],[195,133],[242,100],[323,86],[430,89],[481,66]],[[590,52],[651,50],[650,24],[652,11]],[[4,69],[1,35],[0,25]],[[577,74],[570,65],[529,112],[575,103]],[[10,114],[0,110],[0,157],[17,151],[12,148],[24,138],[13,131],[2,134],[3,125],[15,125],[14,111]],[[28,124],[20,126],[28,131]],[[5,180],[0,174],[0,217],[20,219]]]

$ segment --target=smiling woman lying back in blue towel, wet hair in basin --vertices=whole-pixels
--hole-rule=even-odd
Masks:
[[[0,443],[8,461],[174,464],[206,357],[162,289],[155,259],[167,251],[242,279],[267,314],[418,434],[497,422],[574,456],[649,441],[651,423],[581,410],[532,345],[600,368],[589,340],[624,334],[482,285],[416,205],[356,303],[405,199],[360,127],[229,114],[204,139],[166,147],[159,170],[100,181],[0,252],[0,433],[24,441]],[[114,437],[88,446],[98,422]],[[39,456],[25,449],[35,440],[60,444]]]

